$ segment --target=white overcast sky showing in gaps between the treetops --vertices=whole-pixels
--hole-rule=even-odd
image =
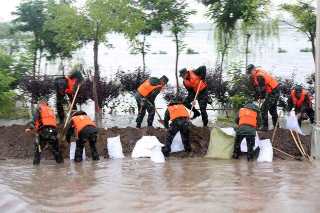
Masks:
[[[0,21],[10,21],[14,17],[11,15],[11,12],[15,10],[15,7],[19,4],[21,0],[0,0],[1,6],[0,6]],[[83,3],[85,0],[78,0],[78,4]],[[203,18],[203,13],[205,12],[205,7],[198,3],[196,0],[187,0],[190,4],[190,7],[192,9],[197,10],[196,15],[192,15],[189,18],[189,22],[191,23],[200,23],[200,22],[206,22],[207,20]],[[272,0],[273,3],[278,4],[284,1],[292,1],[292,0]]]

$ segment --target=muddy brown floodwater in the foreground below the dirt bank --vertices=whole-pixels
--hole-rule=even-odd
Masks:
[[[318,212],[319,175],[301,161],[9,160],[0,162],[0,211]]]

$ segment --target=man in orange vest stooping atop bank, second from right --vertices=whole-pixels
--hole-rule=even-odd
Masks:
[[[272,116],[272,124],[274,127],[278,119],[278,113],[276,111],[276,105],[280,97],[278,82],[266,71],[257,69],[253,64],[249,64],[246,67],[246,70],[250,72],[251,76],[254,78],[254,85],[260,88],[260,97],[258,99],[259,106],[261,99],[265,98],[260,108],[262,116],[262,128],[259,130],[268,131],[268,112]]]

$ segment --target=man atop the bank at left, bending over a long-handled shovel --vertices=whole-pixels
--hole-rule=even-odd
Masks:
[[[81,84],[82,80],[83,77],[79,71],[54,79],[53,89],[56,92],[56,111],[59,116],[59,124],[62,124],[64,119],[63,104],[68,104],[64,96],[67,95],[71,103],[74,97],[74,85],[76,82]],[[75,104],[73,105],[73,110],[76,110]]]

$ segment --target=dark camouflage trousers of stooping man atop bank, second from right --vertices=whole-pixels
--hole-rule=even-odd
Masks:
[[[276,120],[278,119],[278,113],[276,111],[276,105],[278,103],[278,99],[280,97],[280,91],[278,88],[272,90],[269,94],[267,94],[263,104],[261,105],[261,117],[262,117],[262,126],[264,128],[268,128],[268,112],[272,116],[272,124],[275,126]]]

